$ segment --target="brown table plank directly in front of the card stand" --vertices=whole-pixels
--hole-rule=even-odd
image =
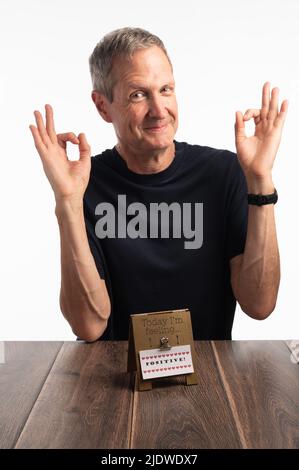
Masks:
[[[240,448],[241,441],[208,341],[195,342],[198,384],[182,379],[135,391],[132,448]]]

